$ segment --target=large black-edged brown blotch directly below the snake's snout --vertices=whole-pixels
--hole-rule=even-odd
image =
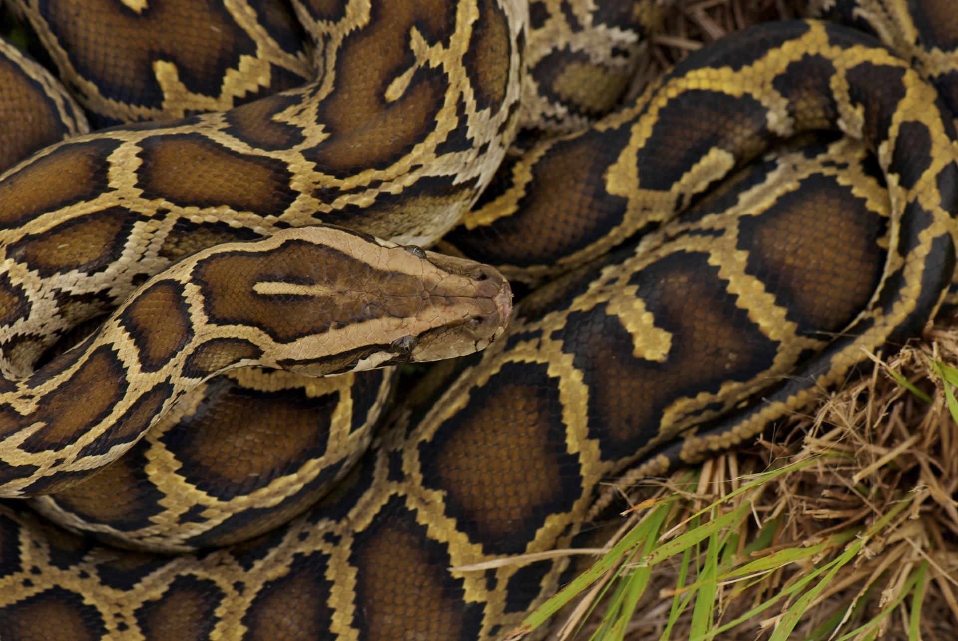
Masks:
[[[546,365],[507,363],[420,444],[422,484],[445,493],[486,554],[519,554],[548,515],[582,493],[579,462],[566,451],[559,379]]]

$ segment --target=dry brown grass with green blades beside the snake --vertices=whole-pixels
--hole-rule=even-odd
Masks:
[[[578,613],[576,599],[559,612],[548,638],[563,629],[603,641],[956,638],[950,367],[953,318],[795,417],[790,446],[760,442],[634,489],[629,500],[644,502],[631,532],[648,532],[582,591]],[[616,616],[627,625],[610,631]]]

